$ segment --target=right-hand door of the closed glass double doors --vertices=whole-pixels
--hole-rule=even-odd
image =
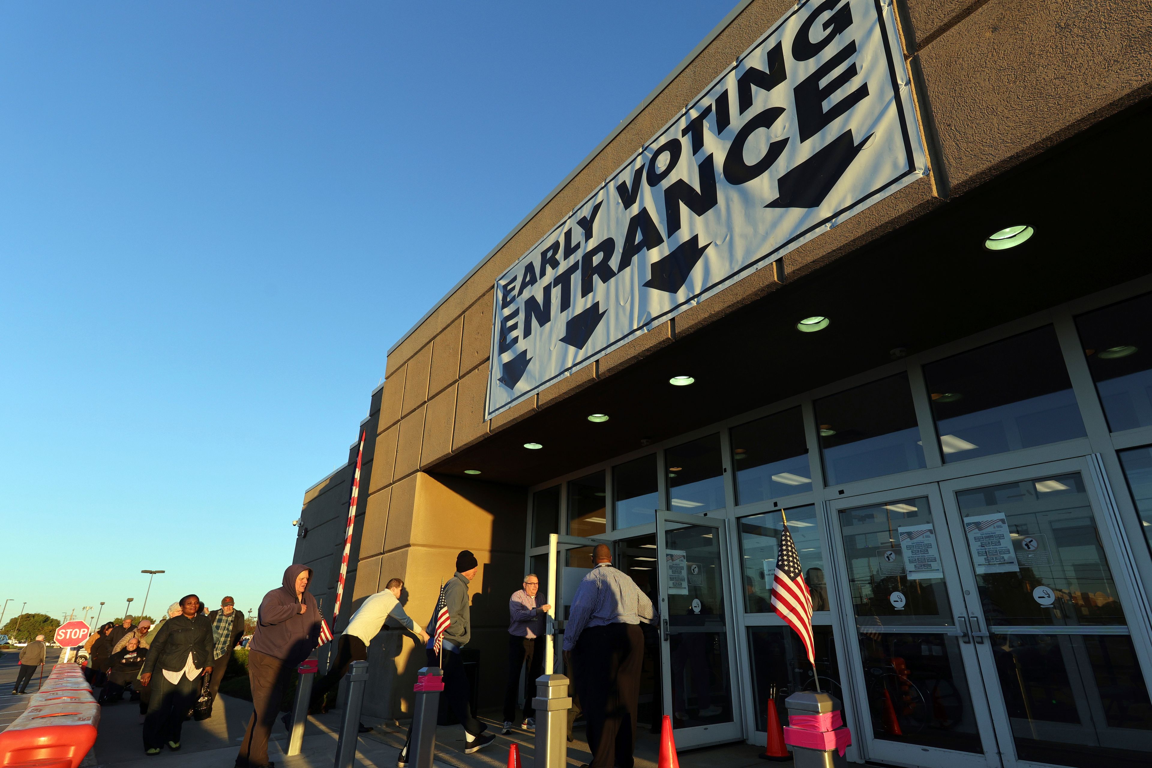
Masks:
[[[1134,579],[1117,579],[1087,459],[941,491],[1005,763],[1152,765]]]

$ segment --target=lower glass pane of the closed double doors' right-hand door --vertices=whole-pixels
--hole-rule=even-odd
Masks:
[[[1152,702],[1127,636],[992,633],[1016,756],[1076,768],[1152,762]]]

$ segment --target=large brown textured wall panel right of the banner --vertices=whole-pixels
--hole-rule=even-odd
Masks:
[[[987,2],[919,58],[961,193],[1152,93],[1152,3]]]

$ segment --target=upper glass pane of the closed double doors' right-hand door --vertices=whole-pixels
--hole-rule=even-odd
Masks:
[[[1126,623],[1079,473],[962,491],[956,501],[988,624]]]

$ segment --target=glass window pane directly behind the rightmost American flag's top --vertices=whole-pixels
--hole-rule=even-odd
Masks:
[[[824,578],[824,552],[816,522],[816,505],[787,510],[788,530],[799,554],[804,581],[812,594],[812,610],[828,610],[828,585]],[[742,517],[740,554],[744,569],[744,610],[749,614],[772,614],[772,579],[776,570],[776,553],[783,534],[780,510]],[[798,690],[798,689],[797,689]]]

